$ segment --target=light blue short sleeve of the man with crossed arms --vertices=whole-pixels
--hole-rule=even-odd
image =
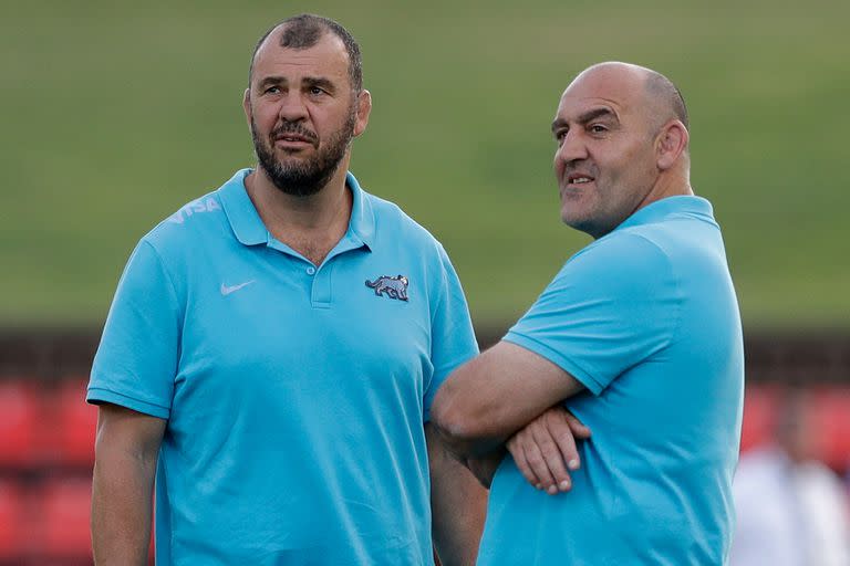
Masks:
[[[663,250],[638,234],[611,234],[572,256],[505,340],[599,395],[670,344],[681,303]]]

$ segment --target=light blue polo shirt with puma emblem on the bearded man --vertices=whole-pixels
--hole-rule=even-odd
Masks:
[[[90,402],[167,419],[157,565],[432,565],[423,427],[477,353],[455,270],[350,174],[315,266],[269,234],[248,172],[142,239],[92,369]]]

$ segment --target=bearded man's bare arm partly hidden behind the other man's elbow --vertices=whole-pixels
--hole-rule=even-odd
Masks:
[[[437,434],[428,432],[431,507],[434,545],[443,566],[470,566],[487,513],[487,491],[449,454]]]

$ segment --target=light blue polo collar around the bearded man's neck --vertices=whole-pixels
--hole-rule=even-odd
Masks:
[[[266,224],[262,223],[245,188],[245,178],[251,171],[252,169],[236,171],[230,180],[218,189],[221,207],[225,209],[230,228],[237,240],[245,245],[269,243],[271,240]],[[372,249],[375,238],[375,217],[369,195],[360,188],[357,179],[351,172],[345,175],[345,186],[352,195],[351,220],[345,238]]]

